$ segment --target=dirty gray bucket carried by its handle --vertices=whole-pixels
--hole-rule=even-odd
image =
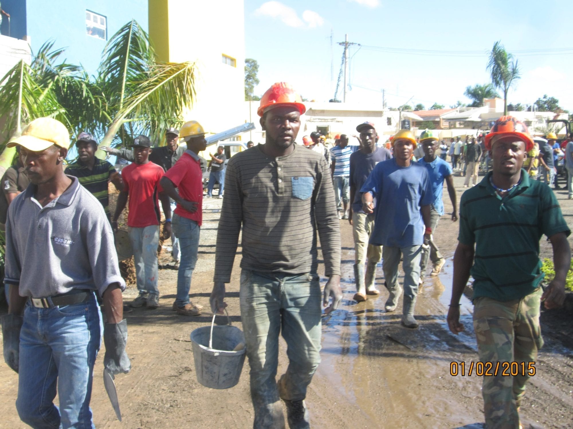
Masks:
[[[229,313],[228,324],[214,326],[215,315],[211,326],[203,326],[191,332],[193,359],[197,381],[211,389],[228,389],[239,382],[246,349],[233,351],[239,344],[245,344],[241,329],[231,326]]]

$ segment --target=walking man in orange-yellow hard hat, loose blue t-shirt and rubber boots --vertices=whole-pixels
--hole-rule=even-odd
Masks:
[[[370,243],[382,246],[384,284],[390,292],[384,308],[387,312],[394,311],[402,295],[398,284],[402,256],[405,274],[402,324],[417,328],[414,307],[420,280],[420,258],[422,244],[430,243],[430,204],[434,202],[434,196],[427,169],[411,160],[416,140],[410,130],[396,133],[392,145],[394,158],[379,162],[360,192],[364,213],[374,213],[376,219]]]

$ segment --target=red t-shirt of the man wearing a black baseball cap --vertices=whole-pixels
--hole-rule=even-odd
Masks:
[[[127,226],[145,228],[159,225],[159,180],[163,177],[163,168],[153,162],[147,164],[129,164],[121,170],[125,192],[129,193],[129,214]]]

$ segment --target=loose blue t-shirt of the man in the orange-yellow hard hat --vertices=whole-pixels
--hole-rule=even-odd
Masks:
[[[427,169],[412,162],[408,167],[395,158],[380,162],[360,189],[376,197],[374,231],[370,244],[409,247],[423,244],[424,221],[420,206],[433,202]]]

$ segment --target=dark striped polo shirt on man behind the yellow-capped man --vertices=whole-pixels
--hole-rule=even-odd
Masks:
[[[104,206],[105,214],[109,217],[109,196],[108,196],[108,182],[109,176],[115,173],[113,165],[107,161],[101,161],[95,158],[93,169],[90,170],[87,165],[79,159],[73,164],[68,165],[66,174],[75,176],[80,181],[80,184],[85,189],[89,190],[91,194],[97,198],[101,205]]]

